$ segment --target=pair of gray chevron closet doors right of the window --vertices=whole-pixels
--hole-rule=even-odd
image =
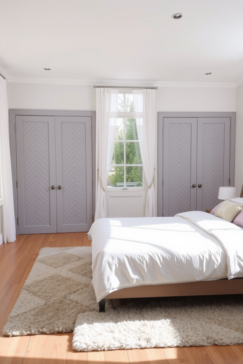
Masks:
[[[230,118],[164,118],[163,214],[210,209],[229,185]]]

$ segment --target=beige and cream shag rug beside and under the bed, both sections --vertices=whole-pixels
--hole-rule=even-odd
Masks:
[[[3,333],[74,331],[77,351],[243,344],[243,296],[106,300],[99,313],[91,247],[43,248]]]

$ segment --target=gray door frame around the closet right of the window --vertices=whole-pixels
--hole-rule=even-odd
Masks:
[[[231,136],[230,136],[230,185],[235,185],[235,124],[236,112],[195,112],[195,111],[159,111],[158,112],[158,179],[157,179],[157,196],[158,196],[158,213],[157,216],[163,215],[163,126],[164,118],[231,118]]]

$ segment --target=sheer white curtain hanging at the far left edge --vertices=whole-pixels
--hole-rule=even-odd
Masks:
[[[9,147],[8,102],[6,81],[0,76],[0,161],[3,192],[3,235],[4,242],[16,240],[13,206],[13,185]]]

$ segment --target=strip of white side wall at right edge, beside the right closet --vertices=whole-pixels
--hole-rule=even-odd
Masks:
[[[243,183],[243,85],[236,88],[235,187],[239,196]]]

